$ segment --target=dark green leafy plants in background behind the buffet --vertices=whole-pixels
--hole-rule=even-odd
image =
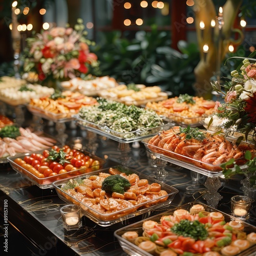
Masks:
[[[119,82],[160,86],[174,95],[194,94],[194,68],[200,57],[196,44],[179,42],[179,51],[170,47],[170,34],[138,31],[134,39],[119,31],[102,33],[92,51],[100,61],[101,75],[110,75]]]

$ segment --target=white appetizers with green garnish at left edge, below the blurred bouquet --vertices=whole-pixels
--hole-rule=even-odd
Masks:
[[[23,84],[18,87],[8,87],[0,91],[0,100],[12,105],[28,104],[31,99],[48,96],[54,93],[53,88],[40,84]]]

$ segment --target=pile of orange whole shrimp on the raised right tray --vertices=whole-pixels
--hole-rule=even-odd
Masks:
[[[253,152],[248,145],[239,145],[227,140],[224,135],[212,135],[205,132],[203,140],[187,139],[185,133],[181,133],[178,126],[152,137],[148,141],[152,151],[167,154],[171,157],[185,156],[187,160],[195,159],[208,165],[220,165],[233,158],[235,160],[244,156],[246,150]],[[163,151],[161,151],[163,150]],[[177,154],[172,154],[172,152]],[[255,152],[254,152],[255,153]],[[182,158],[184,160],[184,158]],[[218,168],[217,168],[218,169]]]

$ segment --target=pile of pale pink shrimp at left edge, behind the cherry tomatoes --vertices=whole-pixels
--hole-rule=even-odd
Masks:
[[[42,136],[42,132],[32,132],[28,127],[19,127],[19,132],[20,136],[16,139],[0,138],[0,158],[44,150],[56,143],[56,140]]]

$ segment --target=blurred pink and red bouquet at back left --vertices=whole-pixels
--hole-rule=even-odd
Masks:
[[[86,39],[82,23],[79,18],[74,29],[53,27],[27,38],[23,78],[29,82],[69,80],[98,67],[97,56],[89,49],[94,42]]]

